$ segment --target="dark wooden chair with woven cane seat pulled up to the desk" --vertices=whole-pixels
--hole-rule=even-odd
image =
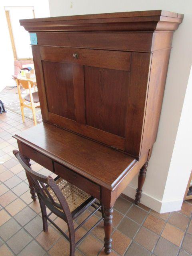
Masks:
[[[95,228],[103,220],[102,206],[96,202],[96,198],[90,196],[86,192],[70,184],[63,178],[57,176],[55,179],[50,176],[44,176],[34,172],[26,165],[24,156],[18,151],[13,150],[20,164],[26,171],[26,176],[30,179],[35,187],[36,194],[39,199],[40,208],[42,212],[43,230],[48,230],[47,220],[49,220],[60,233],[70,242],[70,256],[74,256],[75,246],[78,245],[82,239],[87,236],[93,228]],[[50,214],[54,213],[67,223],[67,236],[50,218],[50,214],[46,213],[46,206],[50,209]],[[73,220],[82,214],[88,207],[92,206],[94,211],[74,228]],[[77,242],[75,242],[75,231],[78,230],[96,211],[102,212],[102,218]]]

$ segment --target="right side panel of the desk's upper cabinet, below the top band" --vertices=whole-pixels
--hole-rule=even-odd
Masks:
[[[156,141],[169,57],[170,49],[153,53],[141,155],[148,151]]]

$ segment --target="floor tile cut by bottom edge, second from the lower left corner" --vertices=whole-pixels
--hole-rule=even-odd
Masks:
[[[45,251],[43,248],[35,241],[28,244],[18,256],[43,256]]]

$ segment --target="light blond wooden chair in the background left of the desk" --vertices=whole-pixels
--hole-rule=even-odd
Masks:
[[[37,124],[37,120],[36,120],[36,113],[35,113],[35,108],[39,108],[40,104],[39,104],[39,96],[38,96],[38,92],[36,92],[35,89],[35,84],[33,81],[30,80],[22,80],[22,79],[16,79],[17,82],[17,88],[18,88],[18,94],[19,94],[19,100],[20,100],[20,107],[21,107],[21,114],[22,114],[22,120],[23,122],[25,122],[25,117],[24,117],[24,110],[23,108],[30,108],[32,110],[32,114],[33,114],[33,120],[34,120],[34,124]],[[29,90],[29,94],[27,94],[24,98],[22,98],[21,95],[21,88],[20,86],[22,86],[22,88]],[[32,92],[31,88],[34,87],[35,92]],[[30,102],[31,104],[25,104],[24,102]]]

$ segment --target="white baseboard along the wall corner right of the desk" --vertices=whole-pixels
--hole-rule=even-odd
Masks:
[[[130,198],[135,199],[136,188],[134,188],[131,185],[128,185],[124,190],[123,194],[129,196]],[[140,202],[156,212],[164,213],[179,211],[181,209],[183,199],[164,202],[143,192]]]

